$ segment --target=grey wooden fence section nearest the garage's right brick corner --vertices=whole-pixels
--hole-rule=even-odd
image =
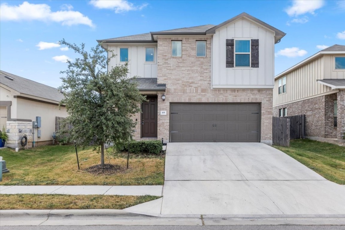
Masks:
[[[290,146],[290,119],[272,118],[272,143],[279,146]]]

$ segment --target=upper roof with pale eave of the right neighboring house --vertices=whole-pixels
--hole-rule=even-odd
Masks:
[[[310,56],[309,58],[306,58],[304,59],[303,61],[295,64],[293,67],[290,67],[289,69],[279,73],[278,75],[276,75],[274,78],[277,79],[279,77],[282,77],[283,75],[303,66],[304,64],[316,59],[316,58],[319,58],[321,56],[323,56],[324,54],[345,54],[345,46],[342,46],[342,45],[338,45],[338,44],[335,44],[331,47],[328,47],[326,49],[323,49],[317,53],[315,53],[314,55]]]

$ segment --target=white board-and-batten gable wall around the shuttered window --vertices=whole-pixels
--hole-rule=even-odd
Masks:
[[[259,39],[259,68],[226,68],[226,39]],[[269,88],[274,86],[274,32],[247,19],[216,30],[212,49],[213,88]]]

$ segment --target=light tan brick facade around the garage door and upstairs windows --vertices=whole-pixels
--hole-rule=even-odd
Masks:
[[[171,40],[182,40],[182,57],[171,57]],[[206,40],[206,57],[196,57],[196,40]],[[158,139],[169,141],[169,110],[172,102],[238,102],[261,104],[261,141],[272,143],[272,89],[212,89],[211,38],[158,38],[158,80],[166,84],[166,100],[158,93]],[[166,110],[167,115],[160,115]],[[140,114],[134,119],[140,121]],[[140,122],[134,138],[140,139]]]

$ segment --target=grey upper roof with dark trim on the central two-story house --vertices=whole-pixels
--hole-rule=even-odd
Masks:
[[[214,34],[216,29],[225,26],[228,23],[231,23],[237,19],[240,19],[242,17],[245,17],[249,20],[252,20],[258,24],[260,24],[263,27],[266,27],[272,31],[275,32],[275,43],[278,43],[280,39],[282,39],[286,33],[284,33],[281,30],[276,29],[273,26],[270,26],[269,24],[243,12],[223,23],[220,23],[218,25],[212,25],[207,24],[203,26],[194,26],[194,27],[184,27],[184,28],[178,28],[178,29],[171,29],[171,30],[162,30],[162,31],[156,31],[156,32],[149,32],[149,33],[142,33],[142,34],[136,34],[131,36],[124,36],[124,37],[118,37],[118,38],[109,38],[109,39],[102,39],[97,40],[97,42],[103,42],[103,43],[113,43],[113,42],[157,42],[157,35],[170,35],[170,34],[176,34],[176,35],[183,35],[183,34],[200,34],[200,35],[207,35],[207,34]]]

